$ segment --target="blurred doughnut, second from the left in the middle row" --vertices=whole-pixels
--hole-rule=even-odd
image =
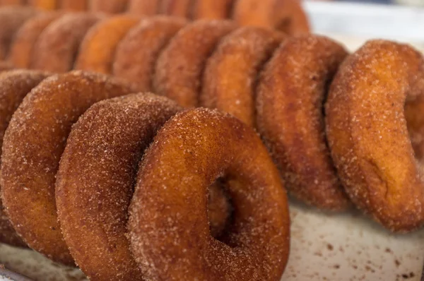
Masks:
[[[40,13],[27,20],[16,32],[11,44],[9,61],[17,68],[30,68],[33,49],[38,37],[47,26],[62,14],[57,12]]]

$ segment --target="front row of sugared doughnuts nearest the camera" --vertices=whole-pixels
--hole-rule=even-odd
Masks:
[[[102,74],[6,71],[0,88],[1,198],[25,244],[90,280],[280,280],[288,203],[252,128]],[[235,210],[219,240],[216,179]]]

